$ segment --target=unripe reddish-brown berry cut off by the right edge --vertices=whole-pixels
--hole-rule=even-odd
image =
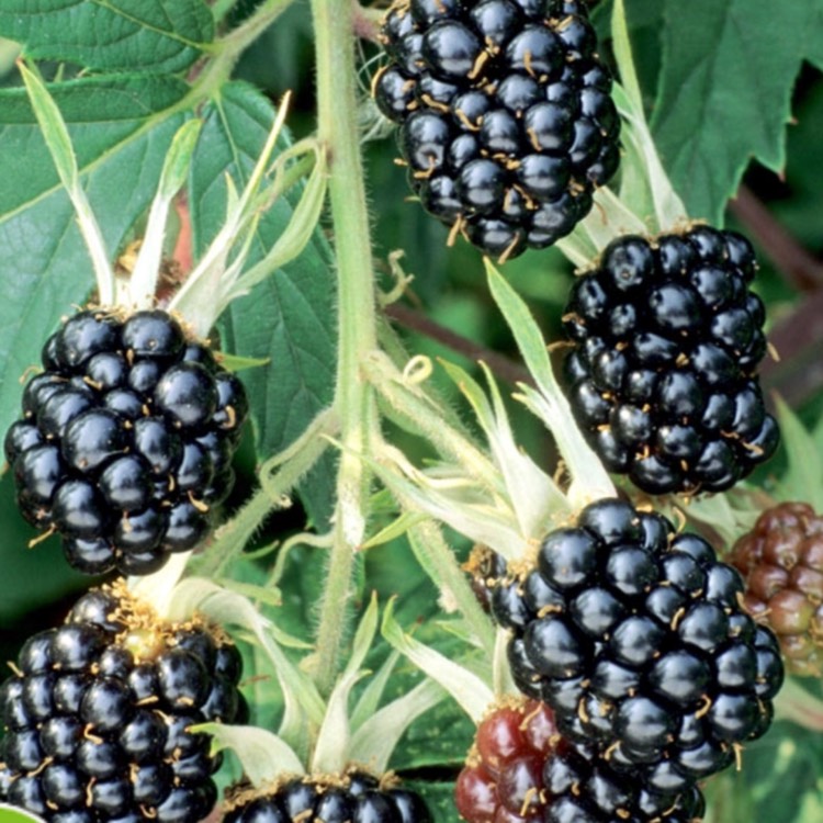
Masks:
[[[805,503],[764,511],[732,550],[743,604],[777,634],[794,674],[823,673],[823,517]]]

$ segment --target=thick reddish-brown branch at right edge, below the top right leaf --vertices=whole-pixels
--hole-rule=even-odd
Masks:
[[[757,238],[766,256],[786,280],[803,292],[823,286],[823,261],[798,243],[778,223],[764,203],[745,185],[729,207],[734,216]]]

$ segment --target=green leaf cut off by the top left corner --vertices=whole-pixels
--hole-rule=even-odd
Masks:
[[[203,0],[3,0],[0,35],[29,57],[180,72],[211,44],[214,21]]]

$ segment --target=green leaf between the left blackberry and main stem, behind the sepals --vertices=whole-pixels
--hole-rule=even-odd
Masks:
[[[226,211],[226,172],[240,185],[271,128],[274,110],[244,83],[229,83],[203,112],[203,131],[191,174],[195,255],[217,233]],[[249,266],[261,259],[292,216],[298,188],[279,199],[257,228]],[[290,198],[292,200],[290,201]],[[244,358],[268,359],[267,368],[240,373],[249,394],[261,459],[281,451],[329,404],[335,383],[335,279],[319,232],[303,253],[235,301],[223,315],[226,348]],[[315,522],[334,499],[334,455],[324,455],[301,487]]]

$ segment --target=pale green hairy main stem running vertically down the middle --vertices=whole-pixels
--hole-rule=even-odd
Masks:
[[[338,360],[335,406],[342,453],[337,478],[334,542],[320,622],[315,680],[328,695],[340,672],[350,620],[354,552],[367,520],[369,477],[358,455],[367,452],[374,399],[360,374],[376,348],[374,275],[358,131],[354,7],[349,0],[312,0],[317,61],[318,137],[328,153],[329,199],[338,282]]]

